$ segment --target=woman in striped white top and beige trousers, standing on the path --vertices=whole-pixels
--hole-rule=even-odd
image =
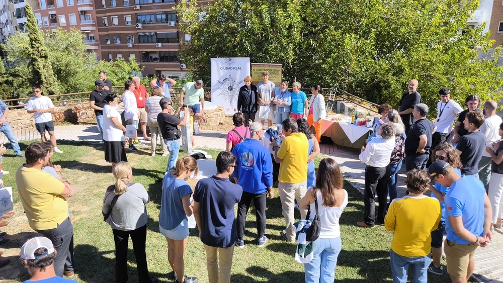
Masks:
[[[162,156],[167,156],[170,152],[167,150],[167,146],[162,139],[162,133],[159,128],[159,123],[157,123],[157,115],[162,112],[160,108],[159,101],[162,99],[162,88],[158,86],[152,87],[152,95],[145,101],[145,112],[147,113],[147,125],[150,129],[150,136],[152,140],[150,141],[150,154],[155,156],[155,149],[157,148],[157,137],[160,137],[160,146],[162,148]]]

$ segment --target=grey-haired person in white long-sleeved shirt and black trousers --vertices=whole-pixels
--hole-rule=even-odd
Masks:
[[[363,221],[358,221],[356,225],[360,227],[372,228],[375,223],[384,225],[386,215],[386,202],[388,193],[389,161],[391,152],[395,148],[395,127],[391,123],[385,123],[379,129],[376,138],[367,143],[367,147],[362,147],[360,160],[365,165],[365,191],[363,193]],[[375,195],[379,207],[375,214]]]

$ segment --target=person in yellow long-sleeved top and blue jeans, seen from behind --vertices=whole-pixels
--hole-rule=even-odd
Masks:
[[[412,265],[412,281],[426,283],[431,262],[431,233],[440,223],[442,210],[437,199],[423,195],[430,187],[426,171],[408,171],[405,184],[408,196],[394,199],[384,218],[386,230],[394,233],[390,251],[393,282],[406,282],[408,266]]]

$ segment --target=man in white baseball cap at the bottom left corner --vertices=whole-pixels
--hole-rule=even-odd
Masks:
[[[43,281],[44,283],[70,283],[75,280],[64,279],[56,276],[54,271],[54,260],[56,250],[52,241],[46,237],[35,237],[28,240],[22,247],[20,253],[23,264],[32,276],[23,283],[33,281]]]

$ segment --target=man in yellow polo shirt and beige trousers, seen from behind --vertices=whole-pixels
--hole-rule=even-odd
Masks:
[[[299,133],[297,122],[293,118],[286,119],[281,123],[280,136],[283,139],[281,147],[278,148],[277,141],[273,141],[271,145],[276,147],[274,158],[277,163],[280,163],[278,189],[286,223],[286,229],[281,232],[281,236],[283,239],[293,242],[295,240],[293,230],[295,200],[300,204],[300,200],[307,191],[307,151],[309,142],[306,135]],[[306,209],[300,209],[302,219],[306,218],[306,214]]]

